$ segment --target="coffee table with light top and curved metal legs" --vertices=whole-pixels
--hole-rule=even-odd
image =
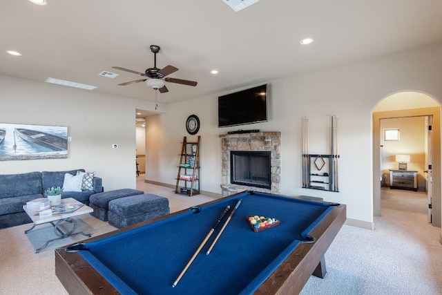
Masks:
[[[32,231],[37,225],[43,225],[45,223],[50,223],[54,227],[54,232],[58,236],[58,238],[53,238],[51,240],[47,240],[46,243],[39,247],[39,249],[35,250],[35,253],[39,253],[42,249],[46,248],[50,242],[53,242],[55,240],[61,240],[63,238],[67,238],[68,236],[75,236],[77,234],[81,234],[83,236],[89,236],[90,234],[85,234],[83,231],[74,232],[75,229],[77,229],[77,221],[73,218],[75,216],[81,216],[86,213],[92,213],[94,210],[85,204],[75,200],[74,198],[66,198],[61,199],[61,204],[64,205],[83,205],[81,208],[70,212],[70,213],[52,213],[52,216],[40,218],[39,212],[36,210],[31,210],[26,207],[26,205],[23,205],[23,210],[28,214],[32,222],[34,222],[34,225],[30,229],[26,229],[25,234],[28,234],[29,231]],[[72,228],[69,231],[64,231],[59,225],[61,225],[62,222],[70,222],[72,224]]]

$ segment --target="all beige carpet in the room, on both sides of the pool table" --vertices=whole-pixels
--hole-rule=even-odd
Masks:
[[[172,212],[214,200],[177,195],[143,178],[137,188],[169,198]],[[302,294],[442,294],[441,229],[427,224],[425,203],[422,193],[383,190],[376,229],[344,225],[327,251],[327,275],[312,276]],[[114,229],[93,216],[81,220],[93,236]],[[0,230],[0,294],[67,294],[55,276],[54,249],[35,254],[23,233],[29,227]]]

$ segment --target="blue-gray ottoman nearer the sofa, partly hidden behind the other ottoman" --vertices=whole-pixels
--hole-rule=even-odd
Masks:
[[[144,191],[137,191],[136,189],[116,189],[115,191],[95,193],[89,197],[89,207],[94,209],[93,213],[90,213],[90,215],[103,221],[108,221],[108,207],[111,200],[141,195],[143,193]]]

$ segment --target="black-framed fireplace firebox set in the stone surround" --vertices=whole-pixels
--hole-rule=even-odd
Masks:
[[[269,151],[231,151],[232,184],[271,188],[271,153]]]

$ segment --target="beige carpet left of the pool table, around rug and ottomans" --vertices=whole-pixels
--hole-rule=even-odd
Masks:
[[[144,175],[137,178],[137,189],[169,198],[171,212],[215,200],[215,198],[202,195],[189,197],[175,194],[167,187],[146,184],[143,178]],[[86,223],[92,229],[93,236],[115,230],[115,227],[109,225],[108,222],[103,222],[89,214],[77,219],[79,224]],[[60,244],[55,242],[35,254],[35,245],[32,245],[28,236],[24,234],[24,231],[31,226],[30,223],[0,229],[0,295],[68,294],[55,276],[54,249]],[[46,225],[39,225],[35,229],[39,230],[40,227],[46,227]],[[61,242],[61,244],[68,245],[85,238],[75,236],[75,239],[67,240],[66,244]]]

